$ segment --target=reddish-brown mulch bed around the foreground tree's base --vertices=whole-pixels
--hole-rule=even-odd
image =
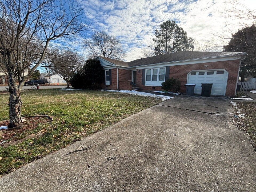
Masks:
[[[3,132],[3,135],[0,137],[0,143],[2,141],[8,140],[8,142],[12,142],[17,140],[15,138],[15,135],[24,133],[24,132],[29,132],[34,130],[39,124],[43,123],[51,123],[51,119],[47,117],[26,117],[24,118],[26,121],[22,124],[22,126],[16,128],[16,129],[0,129],[0,131]],[[0,123],[0,126],[8,126],[9,120]]]

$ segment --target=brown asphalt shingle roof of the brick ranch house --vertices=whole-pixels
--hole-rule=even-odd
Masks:
[[[141,65],[151,65],[156,63],[165,63],[165,62],[175,62],[175,61],[186,61],[192,59],[203,59],[203,58],[213,58],[213,57],[222,57],[229,55],[241,55],[245,54],[242,52],[202,52],[202,51],[180,51],[175,53],[170,53],[166,55],[157,55],[154,57],[147,57],[142,59],[136,59],[130,62],[119,61],[116,59],[110,59],[106,57],[101,57],[115,65],[124,66],[124,67],[135,67]],[[100,57],[100,56],[99,56]]]

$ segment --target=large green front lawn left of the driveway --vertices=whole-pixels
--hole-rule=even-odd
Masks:
[[[0,177],[162,102],[155,98],[96,90],[26,90],[21,96],[23,117],[39,114],[55,118],[52,126],[49,122],[39,122],[33,130],[15,135],[19,139],[43,131],[42,137],[0,147]],[[0,121],[9,119],[8,101],[8,93],[0,94]]]

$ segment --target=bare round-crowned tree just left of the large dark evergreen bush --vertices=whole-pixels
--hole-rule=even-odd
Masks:
[[[67,88],[69,88],[71,77],[82,68],[85,62],[78,53],[71,50],[56,54],[52,59],[52,69],[66,81]]]

